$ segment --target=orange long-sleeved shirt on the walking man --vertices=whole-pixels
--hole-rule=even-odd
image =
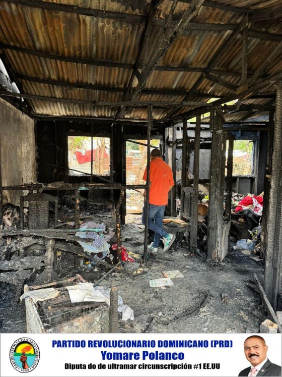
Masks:
[[[147,168],[145,170],[144,181],[147,181]],[[155,205],[165,205],[168,202],[168,192],[170,186],[174,185],[171,168],[157,157],[150,162],[150,182],[149,203]]]

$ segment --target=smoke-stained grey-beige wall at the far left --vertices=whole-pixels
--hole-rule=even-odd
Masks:
[[[36,182],[34,121],[0,98],[3,186]],[[19,204],[20,191],[4,191],[3,201]]]

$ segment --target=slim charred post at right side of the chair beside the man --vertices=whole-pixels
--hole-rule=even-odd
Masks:
[[[200,134],[201,115],[196,117],[195,139],[194,139],[194,166],[193,166],[193,199],[190,233],[190,250],[197,248],[198,233],[198,190],[199,190],[199,162],[200,162]]]

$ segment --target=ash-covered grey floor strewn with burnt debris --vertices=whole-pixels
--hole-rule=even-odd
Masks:
[[[142,263],[142,227],[124,225],[122,240],[129,256]],[[58,267],[60,277],[79,273],[88,282],[106,272],[99,266],[75,267],[75,257],[68,253]],[[169,270],[179,270],[184,278],[173,279],[172,287],[150,288],[150,280],[163,278],[162,271]],[[133,321],[119,316],[121,333],[256,333],[267,317],[259,295],[247,286],[253,273],[263,279],[263,264],[241,251],[231,249],[224,262],[206,262],[204,255],[189,253],[185,242],[176,241],[168,252],[160,250],[147,266],[142,264],[140,271],[136,275],[114,272],[100,283],[116,286],[124,303],[134,310]],[[0,284],[0,331],[26,332],[24,302],[9,308],[14,286]],[[223,293],[228,294],[226,301]]]

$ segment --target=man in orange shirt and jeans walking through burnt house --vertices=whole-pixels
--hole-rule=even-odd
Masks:
[[[145,170],[144,181],[147,181],[147,168]],[[171,168],[161,158],[161,151],[153,149],[151,151],[150,178],[149,178],[149,229],[155,232],[154,242],[148,246],[148,251],[157,252],[160,240],[164,243],[164,251],[167,251],[175,235],[163,229],[163,219],[165,208],[168,202],[168,193],[174,186]],[[144,197],[146,198],[145,191]],[[145,225],[145,205],[143,207],[142,224]]]

